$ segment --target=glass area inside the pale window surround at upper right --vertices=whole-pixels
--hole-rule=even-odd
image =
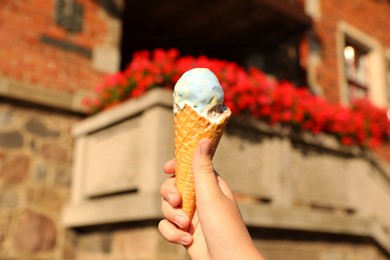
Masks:
[[[369,92],[369,52],[353,41],[346,40],[344,47],[344,68],[347,81],[348,99],[363,98]]]

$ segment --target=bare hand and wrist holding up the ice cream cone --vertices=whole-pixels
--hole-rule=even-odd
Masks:
[[[181,196],[172,176],[161,186],[165,219],[159,231],[171,243],[185,246],[192,259],[264,259],[253,244],[229,185],[215,172],[211,141],[199,142],[192,162],[196,211],[189,217],[180,209]],[[175,173],[175,161],[164,165]]]

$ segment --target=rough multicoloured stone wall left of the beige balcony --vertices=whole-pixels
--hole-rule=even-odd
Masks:
[[[0,259],[68,259],[71,233],[60,216],[69,199],[70,133],[78,120],[0,105]]]

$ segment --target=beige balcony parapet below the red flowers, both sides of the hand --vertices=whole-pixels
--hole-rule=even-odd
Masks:
[[[153,89],[75,126],[67,227],[157,220],[174,155],[172,92]],[[214,157],[251,227],[371,237],[390,251],[390,174],[366,149],[233,116]]]

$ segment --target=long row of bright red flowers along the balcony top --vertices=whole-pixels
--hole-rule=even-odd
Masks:
[[[225,91],[225,104],[234,115],[249,113],[269,124],[324,132],[344,145],[376,147],[389,139],[387,111],[367,99],[354,100],[350,108],[330,104],[306,88],[272,79],[257,68],[245,70],[237,63],[206,56],[179,57],[177,49],[134,53],[123,72],[108,75],[96,87],[98,99],[85,99],[83,104],[97,113],[154,87],[172,89],[184,72],[195,67],[207,67],[216,74]]]

